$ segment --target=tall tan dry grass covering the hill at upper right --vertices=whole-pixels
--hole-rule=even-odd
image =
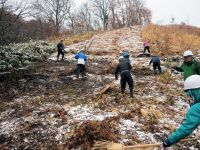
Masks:
[[[187,49],[194,53],[200,48],[200,28],[183,25],[148,25],[142,39],[149,39],[153,53],[159,55],[182,54]]]

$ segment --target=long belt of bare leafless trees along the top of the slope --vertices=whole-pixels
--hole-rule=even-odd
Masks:
[[[108,27],[149,23],[151,12],[143,0],[88,0],[75,8],[73,0],[0,0],[0,44],[43,39],[65,33],[85,33]],[[31,13],[30,13],[31,10]],[[30,14],[33,19],[24,19]]]

